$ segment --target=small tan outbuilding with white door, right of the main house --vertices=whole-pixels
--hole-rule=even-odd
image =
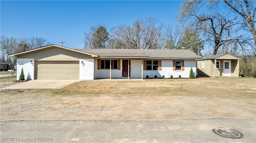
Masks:
[[[239,77],[239,58],[230,54],[210,55],[197,61],[199,76]]]

